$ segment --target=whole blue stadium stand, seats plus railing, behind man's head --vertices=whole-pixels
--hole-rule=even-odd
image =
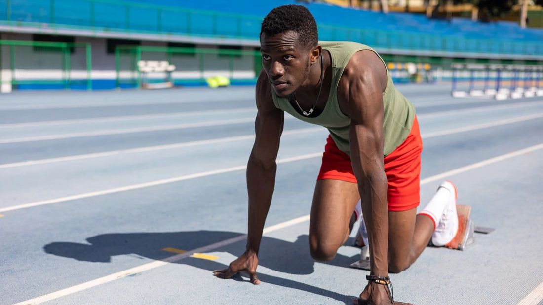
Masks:
[[[278,5],[298,3],[289,0],[238,0],[229,5],[219,0],[0,0],[0,8],[5,8],[7,1],[10,1],[10,15],[0,11],[0,20],[249,40],[257,39],[261,18],[267,12]],[[457,53],[543,53],[543,31],[521,29],[513,22],[481,23],[465,18],[430,20],[420,14],[382,14],[321,3],[307,4],[307,7],[319,23],[321,40],[353,40],[382,48]],[[509,43],[513,40],[515,43]]]

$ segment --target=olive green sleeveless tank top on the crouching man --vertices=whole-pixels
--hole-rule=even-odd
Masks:
[[[271,90],[271,94],[273,95],[275,107],[302,121],[326,127],[330,131],[332,140],[336,142],[339,150],[350,155],[349,132],[351,119],[339,109],[337,87],[345,66],[357,51],[371,50],[375,52],[375,50],[364,44],[355,42],[321,41],[319,43],[324,50],[330,52],[332,57],[332,87],[330,88],[330,95],[328,96],[328,101],[323,112],[314,118],[307,118],[296,112],[288,99],[277,96],[273,90]],[[381,58],[381,56],[379,57]],[[383,64],[385,64],[384,61]],[[383,153],[386,156],[407,139],[415,118],[415,107],[394,87],[388,70],[387,87],[383,92],[383,104]]]

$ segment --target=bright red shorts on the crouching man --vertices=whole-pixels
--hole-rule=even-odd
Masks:
[[[388,210],[407,211],[420,203],[420,153],[422,138],[419,122],[413,120],[413,127],[407,139],[392,153],[384,157],[384,172],[388,180]],[[335,179],[356,183],[351,158],[340,151],[329,136],[324,146],[323,164],[317,180]]]

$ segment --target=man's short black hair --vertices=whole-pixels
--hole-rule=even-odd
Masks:
[[[274,36],[286,31],[294,31],[298,39],[306,48],[313,48],[319,43],[317,22],[311,12],[302,5],[282,5],[271,10],[260,28],[262,33]]]

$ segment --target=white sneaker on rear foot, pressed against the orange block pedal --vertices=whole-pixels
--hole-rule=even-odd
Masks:
[[[456,187],[450,181],[445,181],[439,186],[451,193],[449,202],[445,205],[443,215],[439,219],[439,224],[432,234],[432,244],[434,246],[444,246],[452,241],[458,232],[458,213],[456,212]],[[439,190],[438,188],[438,190]]]

